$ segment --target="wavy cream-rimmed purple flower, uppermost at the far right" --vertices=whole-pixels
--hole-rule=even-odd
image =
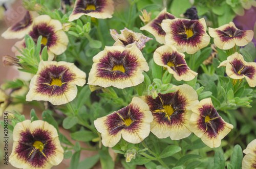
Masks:
[[[237,29],[233,22],[219,28],[209,28],[209,34],[214,38],[214,43],[222,50],[231,49],[234,45],[245,46],[253,38],[253,31]]]

